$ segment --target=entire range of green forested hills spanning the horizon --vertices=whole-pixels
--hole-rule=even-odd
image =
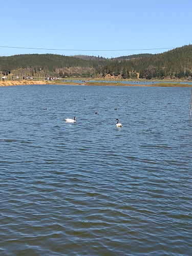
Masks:
[[[161,54],[103,57],[24,54],[0,57],[3,74],[39,74],[60,77],[186,78],[191,79],[192,45]]]

